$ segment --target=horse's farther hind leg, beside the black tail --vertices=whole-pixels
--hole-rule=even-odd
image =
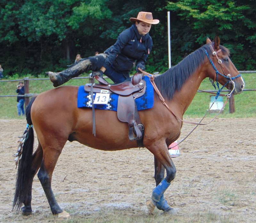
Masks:
[[[29,215],[32,213],[31,208],[31,199],[32,199],[32,183],[34,176],[36,175],[36,172],[38,171],[43,159],[43,149],[41,144],[38,142],[38,147],[36,151],[33,154],[33,160],[31,164],[31,173],[30,178],[28,179],[28,194],[25,196],[25,199],[23,200],[24,206],[21,208],[21,212],[24,215]]]

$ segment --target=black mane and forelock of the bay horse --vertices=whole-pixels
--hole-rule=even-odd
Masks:
[[[213,42],[211,44],[214,44]],[[229,56],[229,50],[220,45],[224,54]],[[209,56],[212,54],[210,44],[205,44],[193,53],[186,56],[177,65],[165,71],[155,78],[157,88],[165,99],[171,100],[175,91],[180,90],[185,81],[201,66],[207,58],[205,50]]]

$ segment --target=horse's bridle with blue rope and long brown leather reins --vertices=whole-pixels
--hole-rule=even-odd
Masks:
[[[221,113],[221,111],[222,111],[222,110],[224,109],[224,107],[226,106],[226,104],[227,104],[227,102],[228,102],[228,99],[231,97],[231,94],[232,94],[233,91],[235,90],[235,82],[234,82],[234,79],[236,79],[236,78],[238,78],[238,77],[241,77],[241,74],[238,74],[236,77],[231,77],[231,73],[227,70],[227,68],[224,67],[224,65],[222,64],[222,61],[219,59],[219,57],[218,57],[218,55],[217,55],[217,54],[221,51],[221,49],[219,49],[219,50],[217,50],[217,51],[214,51],[212,45],[210,45],[210,47],[211,47],[211,49],[212,49],[213,60],[215,61],[215,58],[217,59],[218,63],[220,64],[221,70],[223,71],[223,74],[218,71],[218,69],[217,69],[216,66],[215,66],[215,63],[212,62],[212,59],[211,59],[211,57],[209,56],[207,50],[204,49],[206,56],[208,57],[210,63],[212,64],[213,69],[215,70],[214,80],[216,79],[216,85],[217,85],[217,87],[218,87],[218,92],[216,93],[216,96],[215,96],[215,99],[214,99],[213,102],[212,102],[212,105],[210,106],[210,108],[208,109],[208,111],[206,112],[206,114],[204,115],[204,117],[201,119],[201,121],[200,121],[199,123],[194,123],[194,122],[185,121],[185,120],[183,120],[183,119],[180,119],[177,115],[175,115],[175,113],[173,113],[173,111],[171,110],[171,108],[165,103],[165,100],[164,100],[163,95],[160,93],[159,89],[157,88],[156,83],[155,83],[155,81],[154,81],[155,75],[152,75],[152,74],[150,74],[150,73],[148,73],[148,72],[146,72],[146,71],[143,71],[142,69],[139,68],[139,71],[140,71],[140,72],[142,72],[144,75],[146,75],[146,76],[148,76],[148,77],[150,78],[150,81],[151,81],[151,83],[152,83],[152,85],[153,85],[153,87],[154,87],[154,89],[155,89],[155,91],[156,91],[158,97],[160,98],[160,100],[162,101],[162,103],[165,105],[165,107],[166,107],[178,120],[180,120],[180,121],[182,121],[182,122],[185,122],[185,123],[195,124],[195,125],[196,125],[195,128],[193,128],[193,129],[188,133],[188,135],[187,135],[185,138],[183,138],[177,145],[179,145],[179,144],[180,144],[181,142],[183,142],[186,138],[188,138],[188,136],[196,129],[196,127],[197,127],[198,125],[207,125],[207,124],[211,123],[211,122]],[[226,84],[223,85],[221,88],[220,88],[220,85],[219,85],[219,82],[218,82],[218,76],[219,76],[219,75],[220,75],[220,76],[223,76],[223,77],[225,77],[225,78],[228,79],[228,81],[226,82]],[[214,85],[214,80],[211,81],[211,79],[210,79],[210,81],[212,82],[213,86],[214,86],[215,89],[216,89],[216,86]],[[203,121],[203,119],[205,118],[205,116],[206,116],[206,115],[208,114],[208,112],[210,111],[210,109],[212,108],[214,102],[215,102],[215,101],[217,100],[217,98],[221,95],[220,92],[222,91],[222,89],[223,89],[227,84],[229,84],[229,87],[228,87],[229,90],[230,90],[230,85],[231,85],[231,84],[233,85],[233,88],[232,88],[232,90],[231,90],[227,95],[223,95],[223,96],[227,96],[227,100],[226,100],[226,102],[224,103],[223,107],[220,109],[219,113],[218,113],[217,115],[215,115],[215,117],[214,117],[210,122],[208,122],[208,123],[201,123],[201,122]],[[208,93],[210,93],[210,92],[208,92]],[[211,92],[211,93],[212,93],[212,92]],[[175,145],[175,146],[176,146],[176,145]],[[174,147],[174,146],[173,146],[173,147]],[[172,148],[172,147],[169,147],[169,149],[170,149],[170,148]]]

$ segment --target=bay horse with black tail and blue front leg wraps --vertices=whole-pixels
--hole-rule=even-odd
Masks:
[[[228,73],[220,75],[219,71]],[[143,145],[153,153],[155,161],[156,188],[147,200],[149,214],[153,213],[155,207],[164,213],[173,213],[164,198],[164,191],[176,174],[167,145],[179,138],[182,127],[180,119],[206,77],[218,80],[224,86],[232,78],[234,93],[243,91],[243,78],[231,62],[228,49],[220,45],[219,37],[215,37],[214,42],[207,38],[204,46],[155,78],[156,86],[166,104],[179,119],[164,106],[156,91],[154,107],[139,111],[141,123],[145,126]],[[67,140],[106,151],[138,147],[136,141],[129,140],[126,123],[120,122],[113,111],[95,110],[97,130],[96,137],[93,137],[92,111],[89,108],[77,108],[77,91],[78,86],[61,86],[40,93],[32,98],[26,109],[27,135],[19,160],[13,200],[13,209],[17,212],[23,203],[22,213],[32,213],[32,182],[39,170],[37,176],[52,214],[69,216],[58,205],[51,187],[54,167]],[[34,153],[32,125],[38,138],[38,147]]]

